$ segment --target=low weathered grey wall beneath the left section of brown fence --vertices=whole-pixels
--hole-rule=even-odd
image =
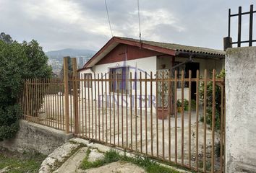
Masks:
[[[48,155],[72,137],[72,134],[64,131],[21,120],[15,138],[0,142],[0,147],[20,152],[38,151]]]

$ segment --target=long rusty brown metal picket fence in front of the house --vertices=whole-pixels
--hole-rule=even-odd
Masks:
[[[184,71],[69,78],[65,69],[64,81],[25,81],[22,119],[196,171],[224,172],[224,80],[215,70],[196,78],[192,71],[188,78]]]

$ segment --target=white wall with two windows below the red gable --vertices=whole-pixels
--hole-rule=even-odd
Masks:
[[[132,72],[132,79],[135,79],[135,72],[137,72],[137,79],[140,79],[140,73],[141,73],[141,77],[142,79],[145,79],[145,75],[147,75],[147,78],[150,79],[150,71],[152,71],[152,78],[155,79],[155,73],[156,73],[156,56],[151,56],[151,57],[147,57],[147,58],[139,58],[136,60],[128,60],[128,61],[122,61],[122,62],[115,62],[115,63],[103,63],[103,64],[98,64],[93,66],[93,68],[91,69],[87,69],[84,71],[80,71],[80,77],[81,79],[84,78],[85,73],[92,73],[93,74],[93,79],[98,79],[98,74],[99,74],[99,78],[100,79],[109,79],[108,76],[108,72],[110,68],[116,68],[116,67],[121,67],[121,66],[127,66],[129,67],[129,72]],[[147,74],[145,74],[145,72],[147,72]],[[95,74],[95,77],[94,77]],[[101,74],[103,75],[103,77],[101,78]],[[135,87],[137,84],[137,88]],[[145,92],[145,85],[147,86],[147,93]],[[84,89],[83,93],[83,97],[88,98],[88,96],[90,97],[90,99],[95,99],[95,88],[96,88],[96,97],[98,95],[101,96],[101,98],[96,98],[96,99],[103,99],[104,101],[109,100],[109,97],[111,97],[111,103],[113,104],[114,101],[116,102],[117,105],[117,100],[119,99],[119,102],[121,105],[121,94],[116,94],[114,92],[111,92],[109,94],[109,83],[107,82],[106,86],[105,86],[105,82],[103,82],[103,90],[101,90],[101,82],[99,84],[99,88],[100,91],[98,91],[98,82],[96,82],[95,84],[93,83],[93,88],[88,89],[84,87],[83,82],[81,82],[80,86],[82,87],[82,89]],[[130,86],[130,84],[129,84]],[[140,86],[140,82],[137,81],[132,81],[132,93],[131,91],[129,91],[128,94],[128,100],[125,100],[125,102],[123,102],[124,107],[127,106],[129,107],[130,105],[132,105],[132,107],[135,107],[135,102],[137,101],[137,110],[140,110],[140,98],[142,100],[142,109],[145,110],[145,102],[147,102],[147,107],[148,105],[150,105],[150,100],[148,98],[150,98],[150,87],[152,86],[152,97],[153,100],[155,100],[155,82],[153,81],[153,84],[150,85],[150,82],[147,82],[147,84],[145,84],[145,82],[143,81],[141,83]],[[137,92],[137,94],[135,94],[135,92]],[[93,93],[93,94],[92,94]],[[107,97],[106,97],[107,95]],[[141,95],[141,97],[140,97]],[[145,100],[145,95],[147,95],[147,101]],[[116,100],[114,100],[114,97]],[[130,102],[130,97],[132,97],[132,102]],[[135,98],[137,97],[137,99],[135,100]],[[123,94],[123,99],[125,99],[125,94]],[[155,103],[155,101],[153,101],[153,103]],[[112,105],[113,106],[113,105]],[[153,109],[153,112],[155,112],[155,108]]]

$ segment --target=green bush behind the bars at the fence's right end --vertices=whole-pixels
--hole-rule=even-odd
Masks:
[[[216,75],[216,78],[224,78],[225,70],[221,70],[220,74]],[[204,99],[204,83],[200,83],[200,101],[203,102]],[[212,127],[212,114],[213,114],[213,82],[210,81],[207,84],[207,110],[206,110],[206,123]],[[221,128],[221,87],[216,85],[216,107],[215,107],[215,129],[219,130]],[[204,121],[204,117],[200,118],[200,121]]]

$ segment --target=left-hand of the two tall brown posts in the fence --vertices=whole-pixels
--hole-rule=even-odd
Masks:
[[[66,133],[69,133],[69,68],[68,68],[69,57],[63,58],[64,67],[64,104],[65,104],[65,117],[66,117]]]

